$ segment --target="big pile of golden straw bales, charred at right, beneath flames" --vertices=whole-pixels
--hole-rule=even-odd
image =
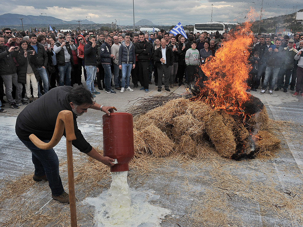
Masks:
[[[253,135],[268,126],[265,107],[246,121],[224,110],[214,110],[201,101],[171,99],[135,120],[135,152],[156,157],[173,153],[198,157],[214,146],[220,156],[239,160],[253,158],[256,152],[268,152],[279,146],[280,141],[269,131]]]

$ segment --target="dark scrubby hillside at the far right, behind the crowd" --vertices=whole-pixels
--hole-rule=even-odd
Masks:
[[[281,15],[278,17],[272,17],[267,19],[262,19],[261,21],[255,21],[252,23],[252,30],[255,33],[258,32],[275,32],[284,29],[291,29],[292,33],[302,32],[302,20],[297,20],[297,13],[303,12],[303,9],[298,12]],[[301,14],[301,13],[300,13]]]

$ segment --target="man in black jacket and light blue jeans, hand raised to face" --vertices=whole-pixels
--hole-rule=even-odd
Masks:
[[[96,97],[95,94],[100,94],[100,92],[96,91],[94,87],[96,73],[99,71],[97,68],[97,51],[96,37],[91,35],[88,38],[87,44],[84,46],[84,65],[87,75],[86,89],[92,93],[93,97]]]

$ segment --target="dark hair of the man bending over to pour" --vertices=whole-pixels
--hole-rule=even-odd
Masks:
[[[83,86],[74,87],[66,95],[68,103],[72,102],[74,105],[81,106],[83,104],[93,105],[93,95]]]

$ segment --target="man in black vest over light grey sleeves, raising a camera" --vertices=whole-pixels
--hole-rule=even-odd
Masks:
[[[58,33],[58,42],[54,45],[54,52],[56,53],[56,60],[59,69],[59,85],[66,86],[71,85],[71,71],[72,64],[74,64],[72,50],[75,51],[77,48],[71,42],[71,37],[69,36],[65,40],[62,33]]]

